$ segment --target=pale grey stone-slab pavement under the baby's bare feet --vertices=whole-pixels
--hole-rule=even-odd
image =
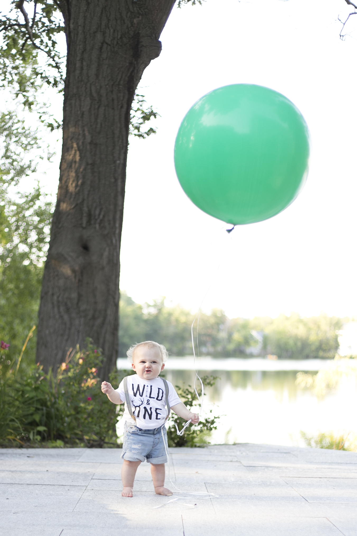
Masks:
[[[170,453],[185,493],[166,478],[174,497],[155,495],[143,463],[124,498],[120,449],[0,449],[0,535],[357,536],[355,452],[237,444]]]

